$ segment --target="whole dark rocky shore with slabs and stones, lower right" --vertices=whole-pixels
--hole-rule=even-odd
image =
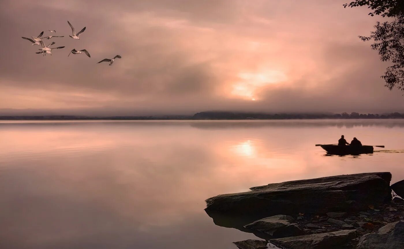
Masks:
[[[219,226],[264,239],[234,242],[240,249],[404,249],[404,180],[390,180],[377,172],[286,181],[209,198],[205,210]]]

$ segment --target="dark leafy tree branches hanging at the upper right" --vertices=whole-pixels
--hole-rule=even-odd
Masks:
[[[377,22],[370,36],[359,36],[363,41],[373,40],[373,50],[377,50],[381,61],[391,62],[391,66],[381,78],[385,87],[397,87],[404,91],[404,0],[358,0],[344,7],[368,6],[373,11],[369,15],[391,17],[393,21]]]

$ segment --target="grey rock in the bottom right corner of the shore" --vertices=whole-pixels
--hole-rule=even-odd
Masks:
[[[387,224],[377,233],[365,234],[358,243],[358,249],[393,248],[404,248],[404,221]]]

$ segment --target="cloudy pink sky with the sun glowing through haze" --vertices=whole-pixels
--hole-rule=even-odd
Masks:
[[[382,18],[346,2],[2,0],[0,115],[404,112],[358,38]],[[21,38],[44,30],[65,48],[43,57]]]

